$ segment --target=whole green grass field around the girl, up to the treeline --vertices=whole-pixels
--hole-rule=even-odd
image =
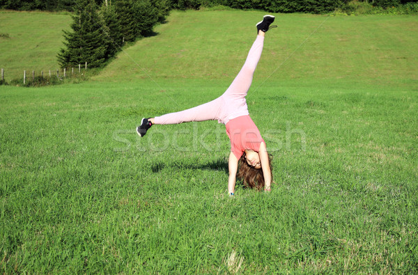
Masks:
[[[417,273],[418,17],[277,15],[247,97],[270,194],[229,198],[214,121],[135,134],[221,95],[262,15],[173,12],[92,81],[0,86],[0,272]]]

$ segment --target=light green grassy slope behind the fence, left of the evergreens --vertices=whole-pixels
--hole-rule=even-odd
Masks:
[[[56,54],[70,22],[67,13],[0,11],[0,68],[6,81],[23,77],[24,70],[59,69]]]

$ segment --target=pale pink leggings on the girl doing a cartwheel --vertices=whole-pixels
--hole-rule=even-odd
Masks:
[[[205,120],[218,120],[219,123],[226,124],[233,118],[248,115],[245,96],[249,86],[251,86],[254,70],[256,70],[257,63],[260,60],[261,52],[263,52],[263,43],[264,37],[257,36],[249,50],[245,64],[223,95],[216,100],[192,109],[156,116],[154,124],[179,124]]]

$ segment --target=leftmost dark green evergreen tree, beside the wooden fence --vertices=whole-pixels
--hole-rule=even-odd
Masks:
[[[63,31],[66,49],[58,54],[61,68],[88,63],[89,68],[102,67],[106,61],[107,40],[94,0],[77,0],[72,15],[72,31]]]

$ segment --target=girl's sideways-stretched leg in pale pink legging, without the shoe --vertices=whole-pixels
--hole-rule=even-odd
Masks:
[[[191,109],[178,111],[176,113],[167,113],[163,116],[156,116],[153,124],[165,125],[189,123],[192,121],[219,120],[223,102],[224,101],[218,97],[216,100],[212,100],[211,102],[201,104]]]

